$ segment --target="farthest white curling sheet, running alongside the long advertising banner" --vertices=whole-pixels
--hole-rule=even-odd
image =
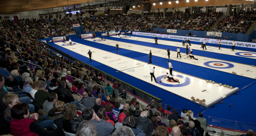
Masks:
[[[123,39],[128,39],[128,40],[137,40],[137,41],[141,41],[141,42],[148,42],[149,44],[155,43],[154,37],[142,38],[142,37],[136,37],[136,35],[132,35],[132,36],[126,35],[126,37],[124,35],[120,35],[120,37],[119,36],[111,36],[111,37],[123,38]],[[173,42],[173,41],[168,41],[168,40],[157,40],[157,43],[162,44],[162,45],[167,45],[167,46],[180,47],[180,49],[186,48],[185,46],[182,45],[182,42]],[[245,58],[250,58],[250,59],[256,59],[255,52],[248,52],[248,51],[242,51],[242,50],[237,50],[237,49],[235,49],[235,51],[231,51],[231,49],[227,49],[227,48],[219,49],[218,47],[212,47],[212,46],[206,46],[207,49],[203,50],[203,48],[200,48],[201,45],[196,45],[196,44],[191,44],[191,45],[192,46],[189,46],[189,47],[192,48],[193,50],[202,50],[205,52],[214,52],[214,53],[218,53],[218,54],[228,54],[228,55],[232,55],[232,56],[240,56],[240,57],[245,57]],[[156,45],[156,47],[157,47],[157,45]],[[231,48],[231,46],[230,46],[230,48]],[[193,52],[193,53],[196,54],[195,52]]]

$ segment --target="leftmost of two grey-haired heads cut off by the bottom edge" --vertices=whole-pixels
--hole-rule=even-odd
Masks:
[[[76,136],[98,136],[98,132],[91,121],[85,121],[79,125]]]

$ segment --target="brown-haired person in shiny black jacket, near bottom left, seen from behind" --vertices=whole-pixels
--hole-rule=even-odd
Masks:
[[[76,104],[70,103],[64,108],[63,130],[75,134],[81,120],[77,119]]]

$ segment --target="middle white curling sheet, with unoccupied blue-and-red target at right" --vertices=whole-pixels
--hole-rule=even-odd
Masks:
[[[114,36],[114,37],[119,38],[118,36]],[[127,36],[127,37],[129,38],[130,36]],[[142,40],[143,39],[144,40],[149,40],[148,38],[142,38]],[[131,44],[131,43],[128,43],[128,42],[119,42],[119,41],[108,40],[108,39],[104,39],[104,40],[85,39],[85,40],[92,41],[92,42],[97,42],[97,43],[100,43],[100,44],[103,44],[103,45],[109,45],[109,46],[113,46],[113,47],[116,47],[116,44],[118,43],[119,44],[119,53],[122,52],[121,49],[128,49],[128,50],[135,51],[135,52],[145,53],[145,55],[147,55],[149,53],[149,51],[151,50],[152,56],[159,56],[159,57],[168,59],[168,56],[166,54],[166,50],[157,48],[157,45],[156,45],[156,47],[148,47],[148,46],[143,46],[143,45],[135,45],[135,44]],[[135,40],[135,39],[132,39],[132,40]],[[154,41],[154,39],[153,39],[153,41]],[[164,40],[162,40],[162,41],[164,41]],[[168,42],[170,42],[170,41],[168,41]],[[166,43],[162,43],[162,44],[166,44]],[[182,44],[182,43],[179,43],[179,44]],[[196,45],[194,45],[194,46],[196,46]],[[199,46],[199,45],[197,45],[197,46]],[[182,47],[182,45],[181,45],[181,47]],[[196,48],[196,47],[194,47],[194,48]],[[207,50],[208,50],[208,48],[209,47],[207,47]],[[199,49],[202,50],[202,48],[200,48],[200,47],[199,47]],[[228,49],[223,48],[223,50],[224,49],[227,50],[225,52],[228,52]],[[218,47],[217,47],[216,50],[219,51]],[[185,49],[183,49],[183,51],[185,51]],[[232,51],[229,51],[229,52],[232,52]],[[174,51],[170,50],[170,62],[172,63],[172,61],[180,61],[180,62],[184,62],[184,63],[193,64],[193,65],[196,65],[196,66],[211,68],[211,69],[214,69],[214,70],[220,70],[220,71],[223,71],[223,72],[226,72],[226,73],[235,72],[235,73],[237,73],[237,75],[244,76],[244,77],[249,77],[249,78],[253,78],[253,79],[256,76],[254,74],[256,72],[256,67],[252,67],[250,65],[236,63],[236,62],[230,62],[230,61],[224,61],[224,60],[204,57],[204,56],[197,56],[196,53],[197,53],[197,51],[194,49],[193,50],[193,54],[195,54],[194,58],[196,58],[198,60],[190,59],[190,57],[184,59],[185,57],[187,57],[187,54],[180,53],[181,58],[180,58],[180,56],[178,56],[178,58],[177,58],[177,52],[174,52]],[[145,60],[145,61],[148,62],[148,59]],[[166,63],[166,68],[168,68],[167,61],[163,62],[163,63]],[[173,70],[175,70],[175,66],[173,66]]]

